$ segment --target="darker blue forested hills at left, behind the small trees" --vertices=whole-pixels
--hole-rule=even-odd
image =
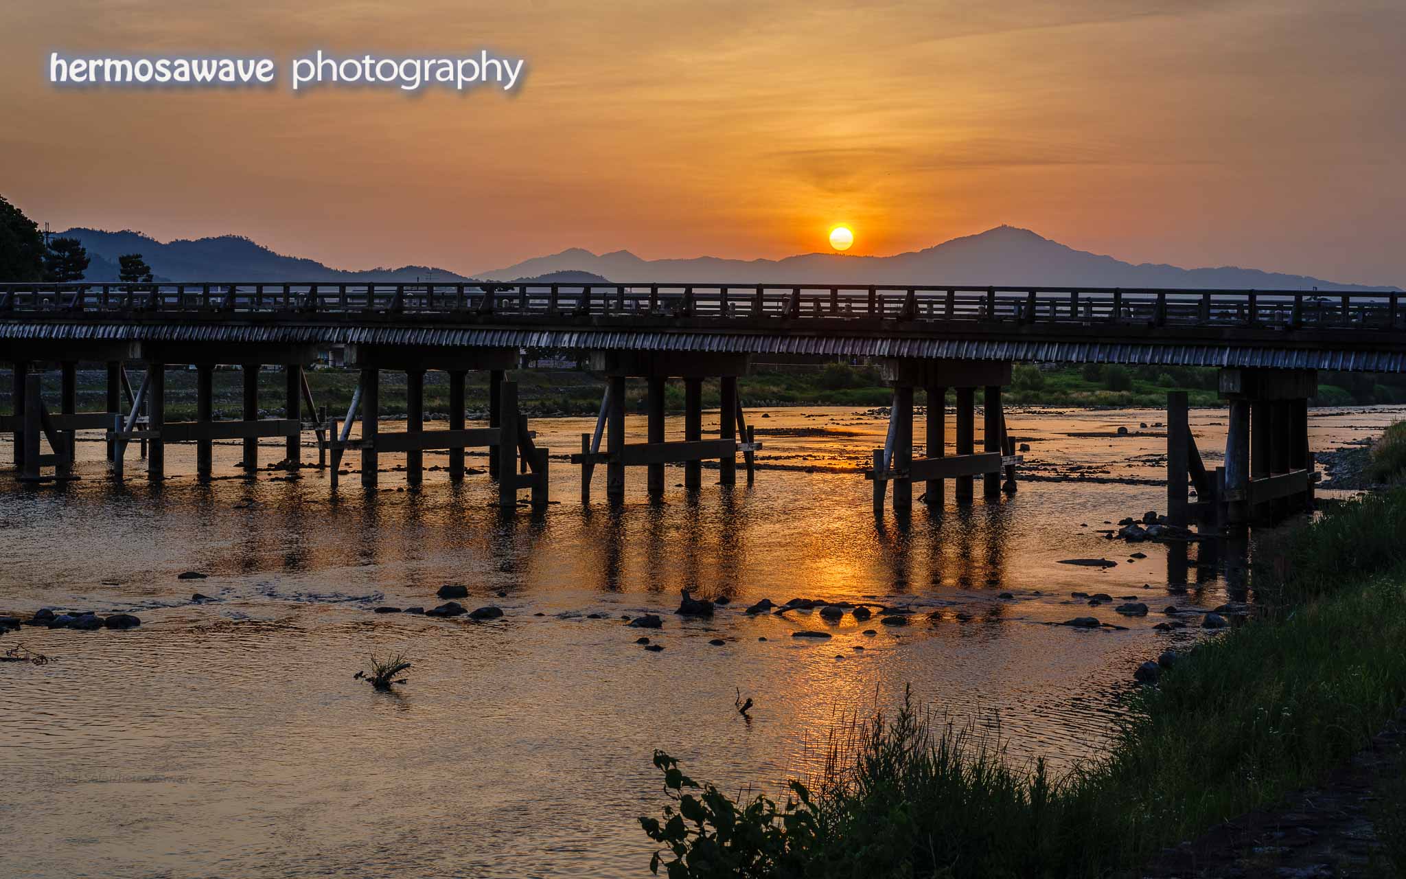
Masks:
[[[69,229],[59,235],[79,239],[89,252],[90,281],[115,281],[117,257],[141,253],[152,274],[166,281],[467,281],[463,274],[429,266],[342,271],[316,260],[284,256],[239,235],[179,239],[162,243],[125,229]]]

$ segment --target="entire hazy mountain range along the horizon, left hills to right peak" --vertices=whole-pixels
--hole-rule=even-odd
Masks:
[[[170,281],[538,281],[538,283],[681,283],[681,284],[962,284],[1046,287],[1182,287],[1253,290],[1399,290],[1344,284],[1302,274],[1222,266],[1181,269],[1163,263],[1126,263],[1076,250],[1029,229],[995,226],[979,235],[893,256],[804,253],[779,260],[641,259],[628,250],[592,253],[579,248],[472,276],[429,266],[346,271],[316,260],[285,256],[236,235],[159,242],[139,232],[75,228],[91,259],[87,280],[115,281],[117,257],[141,253],[157,280]]]

